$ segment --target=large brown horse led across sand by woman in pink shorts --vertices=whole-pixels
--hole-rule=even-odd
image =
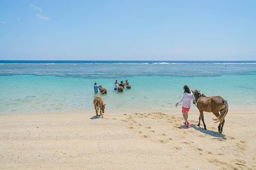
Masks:
[[[192,91],[193,95],[195,96],[196,100],[193,101],[194,104],[196,104],[197,109],[200,112],[199,116],[199,123],[197,126],[200,126],[200,121],[202,119],[203,124],[204,124],[204,129],[206,129],[206,125],[204,123],[204,111],[205,112],[212,112],[217,118],[213,119],[217,123],[220,122],[218,126],[219,133],[222,132],[223,126],[225,123],[224,118],[226,117],[228,113],[228,103],[226,100],[224,100],[220,96],[212,96],[212,97],[207,97],[204,94],[200,93],[200,90],[194,90]],[[219,114],[220,113],[220,114]]]

